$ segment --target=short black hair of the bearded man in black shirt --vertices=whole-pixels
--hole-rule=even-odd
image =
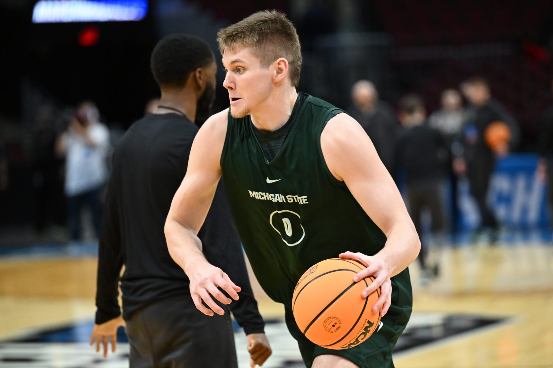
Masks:
[[[206,41],[175,33],[165,36],[155,45],[150,68],[159,87],[183,87],[190,73],[214,60]]]

